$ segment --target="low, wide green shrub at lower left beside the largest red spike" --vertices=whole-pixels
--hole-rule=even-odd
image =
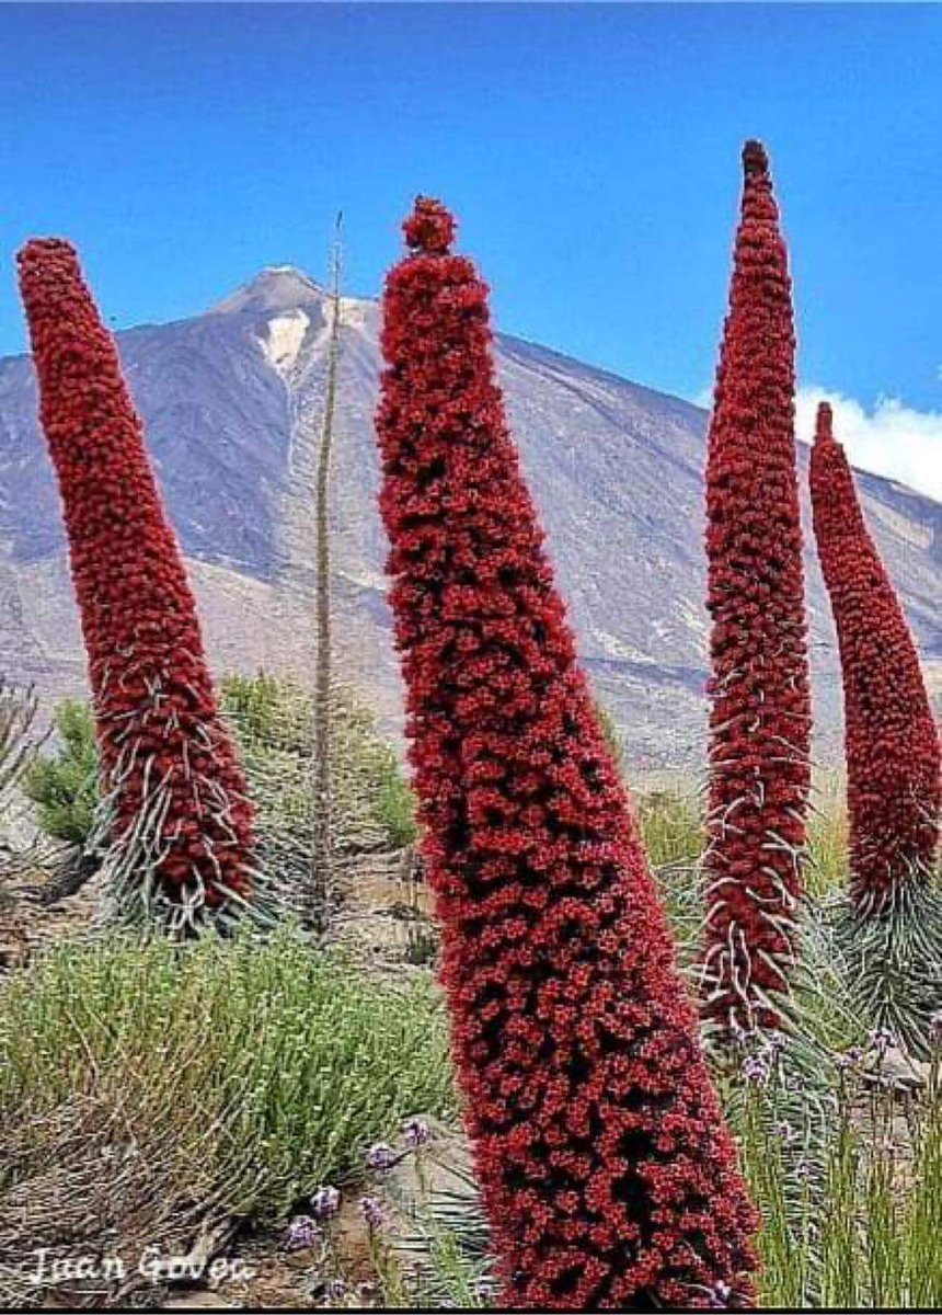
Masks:
[[[197,1199],[280,1223],[410,1114],[455,1114],[443,1009],[424,976],[381,985],[292,928],[67,944],[0,988],[0,1216],[84,1109]]]

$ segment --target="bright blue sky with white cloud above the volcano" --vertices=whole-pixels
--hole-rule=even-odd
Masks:
[[[426,191],[501,327],[694,397],[757,135],[805,389],[942,497],[941,70],[933,5],[4,4],[0,352],[32,234],[71,237],[123,326],[323,275],[338,208],[376,292]]]

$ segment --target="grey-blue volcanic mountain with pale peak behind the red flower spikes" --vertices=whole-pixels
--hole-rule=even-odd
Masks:
[[[334,476],[342,668],[388,725],[401,688],[376,510],[378,306],[346,299]],[[118,335],[219,668],[311,671],[313,487],[323,409],[323,292],[263,271],[193,320]],[[707,416],[516,338],[501,379],[583,660],[635,771],[688,769],[704,740],[703,467]],[[803,462],[805,451],[803,450]],[[866,513],[942,673],[942,505],[872,475]],[[804,502],[805,527],[811,515]],[[819,756],[840,729],[826,598],[808,555]],[[83,689],[53,473],[28,358],[0,360],[0,671],[50,694]]]

